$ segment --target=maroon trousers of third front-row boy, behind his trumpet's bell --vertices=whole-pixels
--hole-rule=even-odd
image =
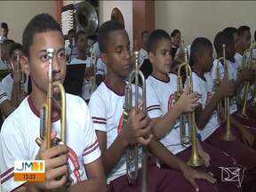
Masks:
[[[212,172],[213,177],[217,179],[217,187],[219,191],[223,192],[236,192],[239,191],[239,183],[238,182],[224,182],[221,180],[221,168],[220,167],[234,167],[236,161],[230,158],[226,153],[221,151],[218,148],[213,148],[211,145],[202,142],[202,147],[204,151],[209,154],[211,157],[210,165],[208,167],[200,166],[196,167],[196,170],[202,172]],[[184,151],[181,151],[177,156],[180,157],[185,162],[188,162],[189,157],[191,156],[191,148],[187,148]]]

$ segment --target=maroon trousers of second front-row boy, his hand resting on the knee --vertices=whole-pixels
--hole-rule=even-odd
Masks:
[[[108,192],[140,192],[141,170],[135,184],[129,184],[127,176],[112,180],[108,185]],[[217,187],[206,180],[196,180],[200,192],[216,192]],[[185,180],[181,172],[172,169],[156,167],[156,164],[148,164],[148,192],[196,192],[196,189]]]

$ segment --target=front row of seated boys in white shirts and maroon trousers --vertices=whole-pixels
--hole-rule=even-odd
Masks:
[[[147,112],[138,113],[132,108],[124,126],[125,78],[132,68],[129,36],[122,24],[109,20],[101,25],[98,38],[100,59],[108,68],[105,80],[92,93],[88,106],[80,97],[66,93],[67,142],[46,148],[45,140],[36,140],[40,135],[39,111],[47,96],[46,49],[54,49],[53,80],[63,83],[68,68],[64,38],[59,24],[48,14],[36,15],[28,22],[22,35],[24,56],[20,62],[23,71],[31,77],[32,92],[5,119],[0,132],[4,191],[51,191],[66,186],[67,182],[67,191],[140,191],[141,170],[135,182],[130,183],[126,175],[125,151],[133,144],[139,144],[139,162],[141,145],[147,146],[151,154],[147,165],[150,192],[256,190],[254,121],[238,119],[236,102],[232,102],[231,126],[236,140],[227,142],[220,140],[225,127],[216,113],[222,98],[234,95],[239,84],[254,80],[254,71],[239,74],[234,71],[230,77],[228,74],[230,80],[221,80],[220,86],[213,89],[212,43],[198,37],[191,44],[189,63],[193,68],[195,92],[183,92],[180,99],[174,101],[177,76],[170,73],[172,39],[164,30],[156,29],[148,36],[147,43],[148,60],[152,64],[152,73],[146,81]],[[76,36],[80,60],[86,60],[84,51],[79,53],[85,39],[82,32]],[[228,69],[234,68],[233,34],[221,31],[215,36],[218,58],[222,56],[222,44],[227,46]],[[186,164],[191,146],[180,143],[179,117],[193,111],[196,112],[198,152],[204,161],[199,168]],[[55,137],[60,138],[60,111],[53,106],[51,138]],[[45,161],[46,180],[14,181],[14,160],[32,159]],[[238,175],[243,181],[223,181],[220,167],[244,170]]]

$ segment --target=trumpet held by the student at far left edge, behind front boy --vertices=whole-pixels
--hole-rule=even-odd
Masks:
[[[20,104],[20,102],[26,97],[25,93],[25,78],[24,78],[24,73],[21,70],[20,66],[20,52],[16,51],[14,52],[15,58],[16,58],[16,68],[12,66],[14,72],[19,72],[21,75],[20,82],[18,85],[18,90],[17,90],[17,105]]]

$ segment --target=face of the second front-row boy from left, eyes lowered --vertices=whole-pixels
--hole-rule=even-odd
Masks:
[[[102,59],[108,68],[117,76],[128,76],[131,68],[130,41],[126,31],[115,30],[108,34],[107,52],[102,53]]]

